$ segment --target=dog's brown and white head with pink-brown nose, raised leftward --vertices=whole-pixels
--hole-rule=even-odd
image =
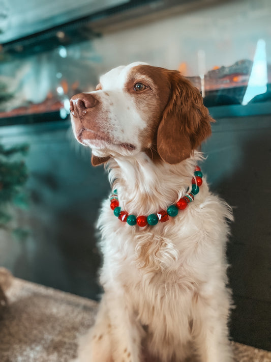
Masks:
[[[211,133],[197,88],[178,71],[132,63],[100,78],[96,91],[71,99],[77,140],[92,148],[92,163],[146,152],[175,164]]]

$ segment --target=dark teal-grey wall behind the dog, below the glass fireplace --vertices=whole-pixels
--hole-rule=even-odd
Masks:
[[[31,234],[25,241],[0,234],[0,265],[15,276],[89,298],[98,298],[100,257],[94,222],[109,183],[92,168],[69,122],[0,128],[4,145],[28,143],[28,210],[19,212]],[[234,209],[228,245],[236,309],[235,341],[271,350],[271,117],[222,118],[203,145],[210,188]]]

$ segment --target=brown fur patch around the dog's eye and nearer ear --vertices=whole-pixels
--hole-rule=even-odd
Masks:
[[[134,84],[147,88],[135,91]],[[147,123],[142,150],[154,161],[178,163],[190,157],[211,133],[208,109],[199,90],[178,71],[148,65],[132,68],[125,91]]]

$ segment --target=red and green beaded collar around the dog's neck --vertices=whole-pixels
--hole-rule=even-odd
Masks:
[[[199,192],[199,186],[202,184],[202,172],[199,166],[196,166],[194,177],[192,177],[192,190],[187,193],[183,198],[179,199],[176,204],[170,205],[167,210],[160,210],[156,214],[150,214],[148,216],[129,215],[126,211],[121,211],[118,203],[117,190],[114,190],[110,196],[110,207],[114,212],[114,215],[123,222],[127,222],[128,225],[138,225],[143,228],[146,225],[156,225],[158,222],[165,222],[169,219],[169,216],[175,217],[179,210],[184,210],[187,205],[194,200],[195,195]]]

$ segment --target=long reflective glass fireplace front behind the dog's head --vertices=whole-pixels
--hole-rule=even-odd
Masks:
[[[207,107],[268,107],[271,7],[266,4],[257,0],[255,7],[244,0],[149,23],[139,19],[138,25],[92,38],[89,24],[81,32],[85,38],[71,43],[66,43],[70,33],[56,31],[63,42],[51,50],[26,55],[18,44],[21,52],[3,60],[0,50],[0,122],[33,114],[46,118],[46,113],[66,118],[74,94],[94,90],[101,74],[136,61],[178,69],[201,91]]]

